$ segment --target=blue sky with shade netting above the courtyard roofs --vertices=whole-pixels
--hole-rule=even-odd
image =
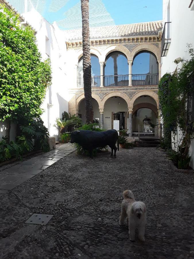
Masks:
[[[25,0],[20,0],[24,5]],[[28,0],[61,29],[81,28],[80,0]],[[14,7],[18,0],[9,0]],[[162,20],[162,0],[89,0],[90,27]],[[16,8],[17,9],[17,8]]]

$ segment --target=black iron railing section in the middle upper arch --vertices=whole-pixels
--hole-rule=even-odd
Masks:
[[[104,76],[104,86],[127,86],[129,75],[108,75]]]

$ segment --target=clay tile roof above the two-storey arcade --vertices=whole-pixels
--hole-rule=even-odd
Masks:
[[[90,39],[112,39],[139,35],[157,35],[162,21],[90,28]],[[82,29],[64,31],[67,41],[82,41]]]

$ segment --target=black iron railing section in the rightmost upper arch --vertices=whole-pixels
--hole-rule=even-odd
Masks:
[[[157,85],[158,74],[133,74],[132,85]]]

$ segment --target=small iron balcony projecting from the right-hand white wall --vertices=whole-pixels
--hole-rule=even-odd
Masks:
[[[170,29],[171,22],[165,22],[161,40],[161,57],[166,57],[171,43]]]

